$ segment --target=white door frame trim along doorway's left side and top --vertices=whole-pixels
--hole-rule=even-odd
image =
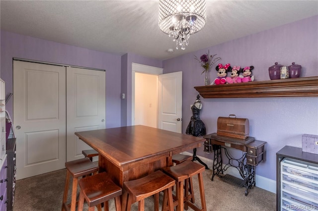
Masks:
[[[159,67],[153,67],[153,66],[148,66],[144,64],[138,64],[132,62],[132,97],[131,97],[131,125],[135,125],[135,73],[140,72],[140,73],[146,73],[146,74],[151,74],[151,75],[161,75],[163,73],[163,68]]]

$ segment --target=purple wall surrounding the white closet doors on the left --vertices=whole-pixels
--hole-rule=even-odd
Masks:
[[[25,58],[106,70],[106,127],[119,127],[121,56],[91,51],[1,31],[1,79],[6,96],[12,93],[12,58]],[[12,115],[12,99],[6,109]]]

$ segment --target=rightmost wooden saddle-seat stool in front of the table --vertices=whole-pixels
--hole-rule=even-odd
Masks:
[[[174,178],[177,181],[176,185],[176,195],[177,201],[174,202],[177,205],[177,211],[183,211],[183,209],[187,210],[188,206],[195,211],[207,211],[206,202],[205,202],[205,193],[203,187],[203,175],[202,172],[205,170],[205,166],[200,165],[196,162],[192,161],[184,161],[178,165],[164,167],[162,171],[169,175],[170,177]],[[201,196],[201,206],[202,209],[196,207],[193,203],[189,201],[189,190],[188,190],[188,178],[198,175],[199,180],[199,189],[200,189],[200,196]],[[185,197],[183,193],[183,181],[185,181]],[[193,195],[193,193],[192,193]],[[192,196],[194,198],[194,196]],[[169,209],[169,211],[173,211]]]

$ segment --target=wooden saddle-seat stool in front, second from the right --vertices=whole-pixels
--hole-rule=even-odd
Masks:
[[[138,211],[145,210],[145,199],[155,195],[155,211],[159,211],[159,193],[164,192],[164,204],[173,210],[172,187],[175,180],[162,171],[155,171],[143,178],[126,181],[123,185],[123,210],[130,211],[131,205],[138,202]],[[162,211],[166,206],[162,206]]]

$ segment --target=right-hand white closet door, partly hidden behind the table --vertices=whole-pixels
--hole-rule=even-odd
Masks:
[[[67,161],[91,149],[75,132],[105,128],[105,71],[67,67]]]

